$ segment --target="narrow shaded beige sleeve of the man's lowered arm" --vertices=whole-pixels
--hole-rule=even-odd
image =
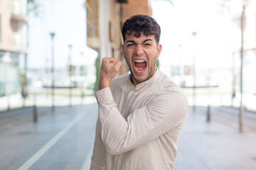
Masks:
[[[94,143],[92,158],[90,163],[90,170],[105,169],[106,151],[100,136],[100,131],[101,131],[101,127],[100,127],[100,121],[98,119],[97,125],[96,125],[95,143]]]

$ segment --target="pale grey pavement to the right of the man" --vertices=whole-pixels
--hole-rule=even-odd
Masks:
[[[212,113],[189,109],[188,120],[181,130],[174,170],[255,170],[256,132],[240,133]]]

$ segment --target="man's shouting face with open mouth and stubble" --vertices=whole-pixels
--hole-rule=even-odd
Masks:
[[[161,53],[161,45],[157,44],[154,35],[145,36],[141,33],[137,38],[133,33],[126,34],[122,50],[131,71],[134,86],[154,76],[156,60]]]

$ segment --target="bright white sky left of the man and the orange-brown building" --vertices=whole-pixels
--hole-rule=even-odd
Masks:
[[[40,0],[38,3],[38,16],[28,13],[28,68],[51,67],[50,33],[53,32],[56,68],[68,65],[68,45],[73,45],[71,64],[94,63],[97,52],[86,46],[85,1]]]

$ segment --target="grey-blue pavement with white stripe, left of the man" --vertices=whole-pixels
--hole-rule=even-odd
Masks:
[[[5,118],[0,121],[0,169],[86,169],[95,139],[97,103],[50,111],[39,107],[37,123],[31,108],[0,114]]]

